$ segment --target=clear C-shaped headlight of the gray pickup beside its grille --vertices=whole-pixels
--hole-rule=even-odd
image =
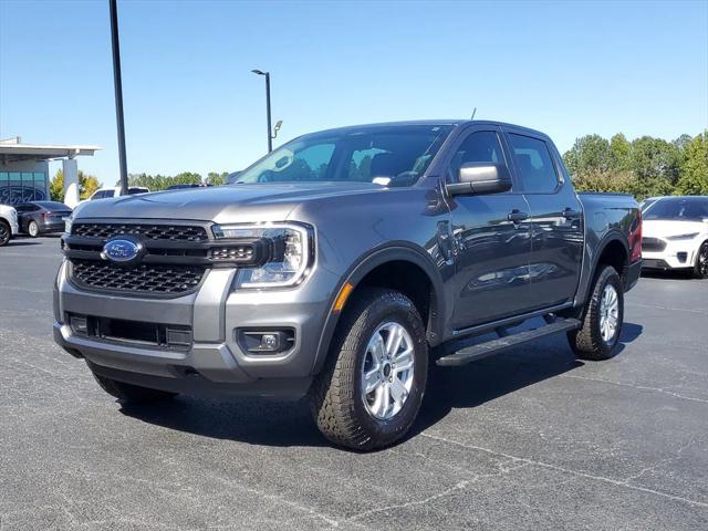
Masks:
[[[301,282],[312,266],[312,229],[304,225],[215,225],[211,230],[217,239],[262,238],[270,243],[263,266],[238,270],[237,288],[291,287]]]

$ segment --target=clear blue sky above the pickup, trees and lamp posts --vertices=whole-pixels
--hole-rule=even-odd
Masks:
[[[107,0],[0,0],[0,137],[118,176]],[[118,0],[131,173],[240,169],[281,138],[409,118],[675,138],[708,127],[708,2]]]

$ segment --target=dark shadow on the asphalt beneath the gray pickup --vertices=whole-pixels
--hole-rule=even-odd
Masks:
[[[617,355],[624,343],[636,340],[642,330],[638,324],[624,324]],[[575,360],[562,335],[461,367],[441,368],[430,363],[420,414],[406,439],[439,423],[452,409],[480,406],[583,365]],[[123,405],[121,412],[169,429],[250,445],[330,446],[319,434],[304,399],[274,403],[180,396],[147,406]]]

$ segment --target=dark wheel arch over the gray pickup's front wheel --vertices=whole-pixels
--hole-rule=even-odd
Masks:
[[[407,269],[406,269],[407,268]],[[408,289],[403,288],[402,280],[410,279],[410,277],[397,277],[389,283],[382,283],[381,280],[386,273],[393,271],[415,271],[414,279],[427,282],[424,290],[419,290],[419,285],[410,285]],[[417,275],[417,277],[416,277]],[[369,281],[374,281],[371,283]],[[339,324],[344,309],[340,312],[333,311],[334,303],[345,284],[353,287],[347,301],[356,294],[357,289],[366,285],[376,285],[382,288],[392,288],[402,291],[409,296],[421,312],[421,317],[426,324],[426,336],[428,343],[433,346],[437,345],[442,337],[442,316],[445,315],[445,293],[442,289],[442,279],[438,272],[430,256],[425,250],[414,247],[407,242],[392,242],[384,248],[377,248],[362,256],[342,277],[335,292],[332,294],[327,306],[327,315],[320,334],[317,352],[313,364],[313,374],[319,373],[327,357],[329,350],[334,337],[334,332]],[[412,292],[415,292],[410,296]],[[420,293],[427,293],[426,300],[420,299]],[[423,310],[423,311],[421,311]],[[425,314],[424,314],[425,313]]]

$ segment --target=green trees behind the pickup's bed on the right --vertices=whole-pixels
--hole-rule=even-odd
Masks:
[[[708,195],[708,131],[668,142],[618,133],[606,139],[586,135],[563,160],[579,190],[650,196]]]

